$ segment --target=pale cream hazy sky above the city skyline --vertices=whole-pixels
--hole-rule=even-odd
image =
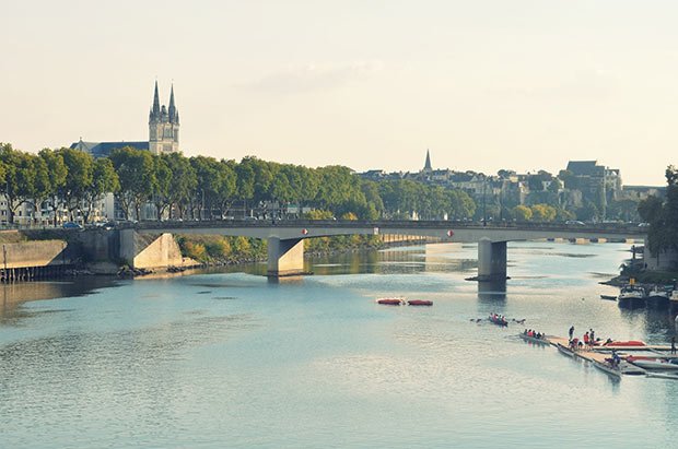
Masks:
[[[0,142],[148,140],[358,172],[678,165],[675,0],[0,2]]]

